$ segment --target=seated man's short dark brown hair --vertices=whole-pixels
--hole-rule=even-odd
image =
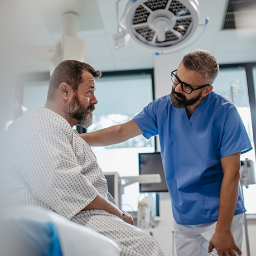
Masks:
[[[57,65],[54,73],[52,73],[47,100],[54,99],[56,90],[62,83],[67,83],[74,91],[78,90],[79,84],[83,82],[83,73],[88,71],[94,78],[100,78],[102,73],[95,70],[89,64],[76,60],[64,60]]]

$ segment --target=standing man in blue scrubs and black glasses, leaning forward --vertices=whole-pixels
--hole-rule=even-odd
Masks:
[[[218,71],[209,51],[188,52],[171,73],[170,95],[127,123],[81,135],[107,146],[159,134],[178,256],[241,255],[240,154],[252,146],[236,107],[212,91]]]

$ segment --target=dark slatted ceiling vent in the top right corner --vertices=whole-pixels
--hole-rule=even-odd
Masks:
[[[256,0],[229,0],[222,30],[256,28]]]

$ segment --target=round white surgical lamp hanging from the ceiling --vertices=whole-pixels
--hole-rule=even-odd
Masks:
[[[118,32],[113,36],[115,49],[127,45],[129,38],[160,53],[181,50],[197,30],[200,7],[197,0],[129,0],[122,17],[116,0]],[[126,27],[123,25],[125,20]],[[202,35],[204,29],[197,36]]]

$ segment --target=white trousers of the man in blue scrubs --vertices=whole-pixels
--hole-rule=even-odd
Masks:
[[[199,225],[179,225],[173,221],[177,256],[218,256],[215,248],[208,253],[209,241],[215,233],[216,223],[217,221]],[[240,250],[243,241],[243,223],[244,214],[235,215],[230,228],[235,244]]]

